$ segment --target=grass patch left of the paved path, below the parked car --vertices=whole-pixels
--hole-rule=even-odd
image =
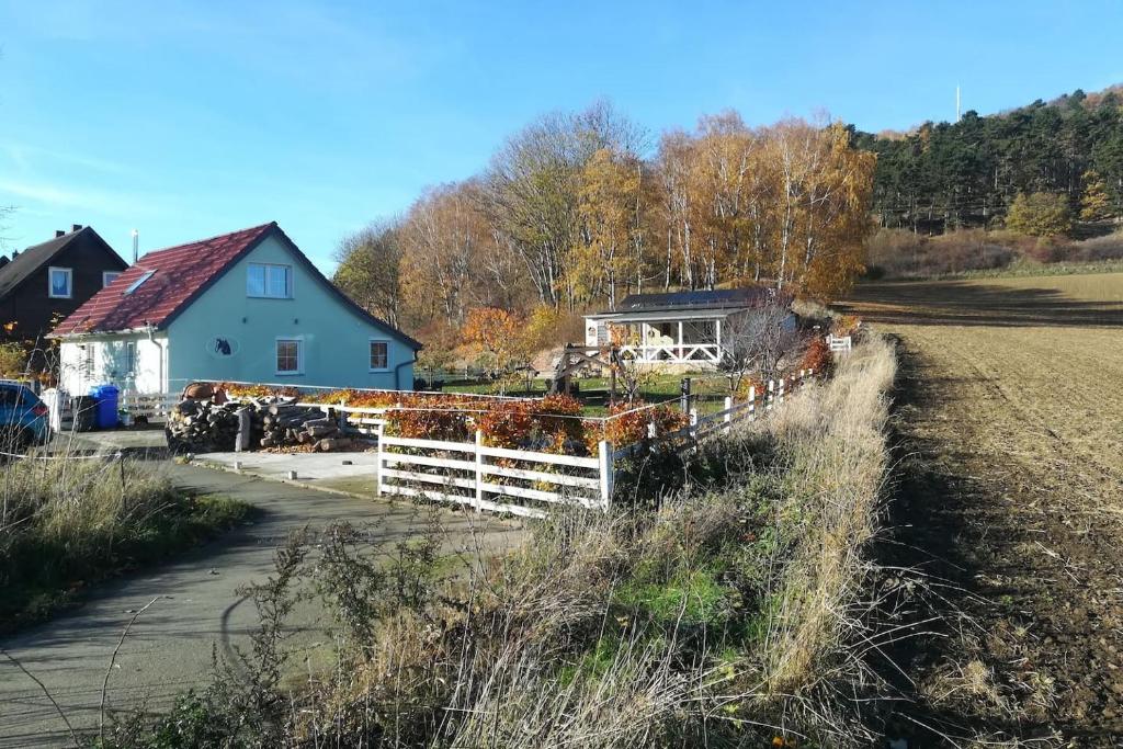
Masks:
[[[2,482],[0,632],[47,619],[91,584],[163,561],[250,512],[129,460],[20,460]]]

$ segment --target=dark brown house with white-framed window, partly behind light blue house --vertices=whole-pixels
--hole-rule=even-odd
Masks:
[[[77,223],[0,259],[0,340],[40,339],[127,267],[97,231]]]

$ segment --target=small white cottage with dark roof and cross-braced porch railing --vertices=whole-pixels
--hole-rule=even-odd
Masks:
[[[791,307],[789,296],[766,286],[632,294],[614,310],[585,316],[585,346],[603,348],[614,339],[637,364],[712,368],[723,356],[722,328],[777,301]],[[795,329],[795,314],[783,325]]]

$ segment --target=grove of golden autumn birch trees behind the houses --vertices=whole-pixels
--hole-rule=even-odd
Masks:
[[[669,287],[767,282],[813,295],[862,267],[875,157],[840,124],[736,112],[652,144],[606,104],[542,117],[487,168],[346,238],[336,283],[409,330],[471,309],[612,308]]]

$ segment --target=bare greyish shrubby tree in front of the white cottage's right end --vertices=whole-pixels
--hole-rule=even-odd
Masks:
[[[779,360],[796,344],[796,332],[788,327],[792,311],[783,300],[774,299],[763,307],[725,319],[721,328],[721,369],[736,392],[750,372],[761,380],[772,380]]]

